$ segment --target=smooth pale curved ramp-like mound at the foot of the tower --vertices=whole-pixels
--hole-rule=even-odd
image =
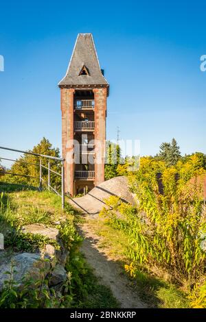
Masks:
[[[69,199],[69,203],[83,214],[98,214],[105,206],[104,199],[117,196],[126,203],[134,203],[133,194],[128,189],[126,177],[114,177],[95,186],[83,197]]]

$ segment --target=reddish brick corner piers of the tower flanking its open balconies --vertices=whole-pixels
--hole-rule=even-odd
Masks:
[[[75,89],[61,88],[62,156],[65,158],[65,192],[76,193],[73,163],[73,95]],[[95,186],[104,182],[106,140],[106,88],[93,89],[95,98]],[[96,144],[97,142],[97,144]],[[98,142],[101,145],[98,145]]]

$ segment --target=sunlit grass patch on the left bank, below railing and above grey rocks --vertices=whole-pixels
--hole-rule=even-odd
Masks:
[[[60,221],[73,222],[73,214],[61,209],[61,200],[48,191],[20,190],[19,185],[0,186],[0,231],[4,235],[5,250],[35,252],[42,249],[45,244],[56,242],[37,234],[24,234],[23,225],[43,224],[46,227],[56,227]]]

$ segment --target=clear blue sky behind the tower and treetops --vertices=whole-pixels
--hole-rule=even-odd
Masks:
[[[154,155],[173,137],[206,153],[205,1],[1,1],[0,145],[61,148],[60,90],[78,33],[91,32],[105,77],[107,138]],[[4,153],[5,155],[6,153]],[[0,153],[2,156],[2,153]]]

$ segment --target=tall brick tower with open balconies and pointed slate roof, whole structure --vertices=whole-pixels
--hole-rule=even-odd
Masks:
[[[78,34],[67,73],[58,86],[65,192],[73,196],[104,181],[109,85],[100,69],[92,34]]]

